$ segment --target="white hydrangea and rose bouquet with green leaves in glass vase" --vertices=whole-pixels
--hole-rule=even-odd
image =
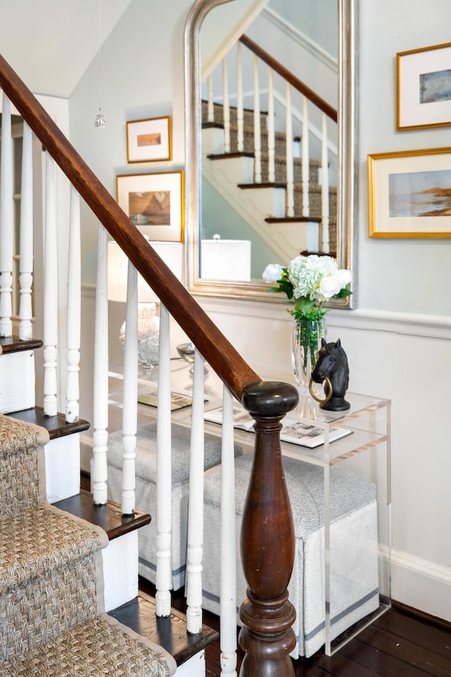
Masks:
[[[288,312],[297,320],[322,319],[329,310],[323,307],[324,301],[352,294],[349,270],[338,269],[331,256],[297,256],[286,268],[271,263],[264,269],[263,279],[273,285],[268,291],[287,295],[294,304]]]

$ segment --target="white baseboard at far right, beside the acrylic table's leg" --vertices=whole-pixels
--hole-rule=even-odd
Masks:
[[[391,560],[392,599],[451,621],[451,567],[399,550],[392,550]]]

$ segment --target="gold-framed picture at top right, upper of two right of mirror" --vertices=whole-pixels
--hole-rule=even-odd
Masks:
[[[396,55],[396,128],[451,125],[451,42]]]

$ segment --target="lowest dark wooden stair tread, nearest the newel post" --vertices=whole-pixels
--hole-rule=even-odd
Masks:
[[[157,618],[153,597],[142,591],[131,602],[118,606],[117,609],[109,611],[109,614],[123,625],[166,649],[174,657],[177,665],[205,649],[219,636],[216,630],[206,625],[202,625],[199,635],[188,635],[185,614],[176,609],[171,609],[171,616],[168,618]]]

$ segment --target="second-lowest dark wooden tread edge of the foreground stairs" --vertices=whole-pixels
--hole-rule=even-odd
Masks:
[[[114,501],[108,501],[104,506],[95,506],[92,494],[83,489],[80,494],[56,501],[53,505],[101,527],[110,541],[149,524],[151,520],[149,514],[137,510],[132,515],[123,515],[121,506]]]

